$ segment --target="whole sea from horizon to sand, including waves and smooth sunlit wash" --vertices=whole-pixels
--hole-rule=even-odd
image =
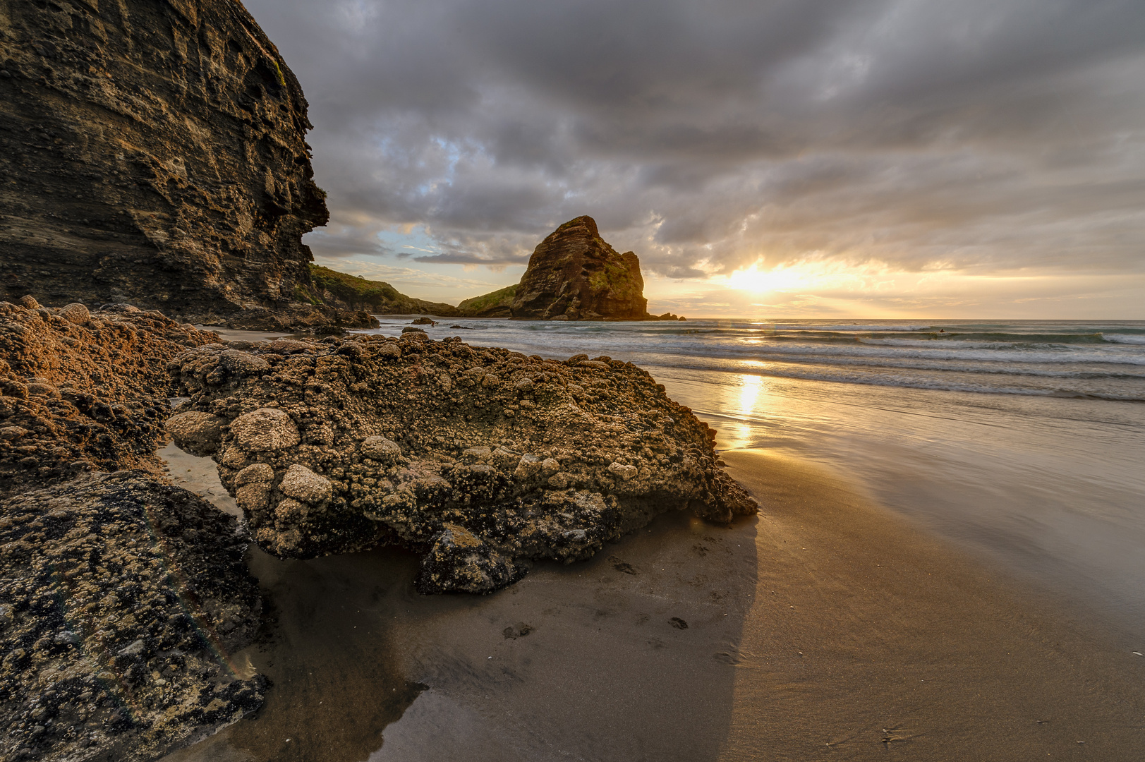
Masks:
[[[386,335],[410,321],[381,320]],[[447,319],[426,330],[632,361],[716,429],[718,448],[830,466],[1145,643],[1145,321]]]

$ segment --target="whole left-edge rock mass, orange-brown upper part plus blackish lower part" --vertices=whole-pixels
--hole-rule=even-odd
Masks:
[[[218,340],[0,303],[0,757],[151,760],[261,706],[227,657],[259,622],[247,536],[156,456],[166,363]]]

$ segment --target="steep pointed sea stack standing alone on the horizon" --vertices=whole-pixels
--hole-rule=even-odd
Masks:
[[[605,243],[591,217],[569,220],[534,250],[511,312],[540,320],[646,320],[640,260]]]

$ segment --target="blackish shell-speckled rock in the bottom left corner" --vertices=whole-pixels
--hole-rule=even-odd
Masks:
[[[137,471],[0,501],[0,759],[153,760],[258,709],[246,543]]]

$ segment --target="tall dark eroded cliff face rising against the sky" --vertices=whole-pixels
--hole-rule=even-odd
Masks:
[[[303,300],[306,99],[232,0],[0,0],[0,296],[183,320]]]

